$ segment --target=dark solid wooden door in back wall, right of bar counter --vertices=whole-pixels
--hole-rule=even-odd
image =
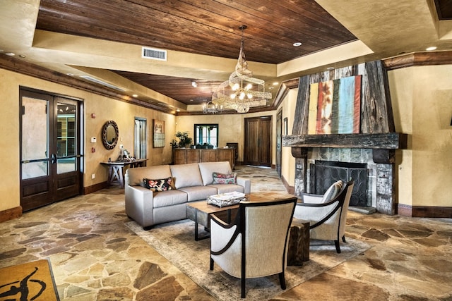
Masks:
[[[271,166],[271,116],[245,118],[244,164]]]

